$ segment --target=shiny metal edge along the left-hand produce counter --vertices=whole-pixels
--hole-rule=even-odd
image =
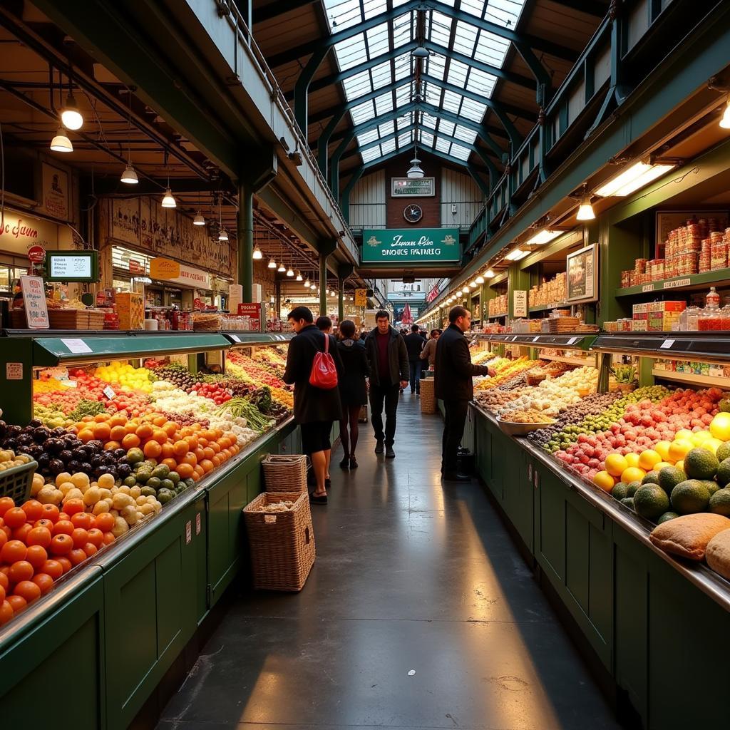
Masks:
[[[108,548],[101,550],[98,553],[99,558],[95,558],[88,564],[82,564],[79,572],[71,572],[68,577],[62,577],[49,593],[46,593],[37,602],[23,610],[18,618],[9,621],[5,626],[0,628],[0,652],[3,650],[5,643],[18,639],[36,621],[42,619],[43,615],[50,615],[54,607],[58,607],[66,599],[74,596],[84,585],[92,583],[97,577],[104,575],[105,570],[108,570],[113,564],[125,558],[151,531],[157,529],[167,520],[172,520],[174,515],[179,514],[190,504],[200,499],[207,489],[214,486],[218,480],[227,475],[228,472],[231,472],[235,466],[252,456],[269,439],[279,434],[288,426],[291,426],[293,420],[294,417],[290,416],[287,420],[280,423],[279,426],[276,426],[276,428],[271,431],[266,431],[266,434],[262,434],[260,438],[251,442],[241,453],[226,462],[226,466],[219,469],[218,472],[213,472],[210,476],[201,480],[194,489],[183,492],[179,497],[169,502],[170,506],[165,507],[158,515],[146,520],[139,528],[128,531],[124,537],[120,537],[120,539],[113,542]]]

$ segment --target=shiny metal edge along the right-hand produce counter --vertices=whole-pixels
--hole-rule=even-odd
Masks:
[[[499,428],[499,423],[491,412],[488,412],[477,403],[472,402],[472,407],[477,413],[483,415],[484,418],[490,420],[494,426]],[[507,434],[504,435],[507,438],[514,438],[507,436]],[[531,444],[528,439],[517,437],[514,440],[530,456],[537,459],[544,466],[547,466],[569,489],[579,493],[583,499],[593,505],[593,507],[596,507],[596,509],[604,512],[613,522],[621,526],[626,532],[639,540],[639,542],[642,542],[643,545],[653,553],[656,553],[664,562],[671,565],[677,572],[687,578],[687,580],[694,583],[697,588],[703,593],[706,593],[707,596],[710,596],[713,601],[720,604],[726,611],[730,611],[730,583],[721,575],[718,575],[703,563],[693,565],[675,560],[669,553],[665,553],[664,550],[657,548],[651,542],[649,533],[654,525],[648,522],[648,520],[644,520],[638,515],[635,515],[634,512],[624,507],[623,504],[613,499],[610,494],[607,494],[602,489],[583,482],[578,477],[567,472],[566,469],[561,468],[560,464],[552,456],[549,456],[541,448]]]

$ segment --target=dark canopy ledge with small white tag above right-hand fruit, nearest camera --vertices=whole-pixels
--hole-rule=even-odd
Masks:
[[[730,362],[730,332],[604,332],[592,347],[621,355]]]

